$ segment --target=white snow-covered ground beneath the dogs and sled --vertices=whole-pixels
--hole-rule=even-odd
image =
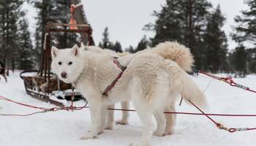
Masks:
[[[223,82],[211,80],[200,75],[194,77],[202,89],[206,90],[208,109],[206,112],[229,114],[256,114],[256,94],[232,88]],[[256,76],[246,79],[236,79],[236,82],[256,89]],[[18,74],[12,74],[9,82],[0,82],[0,95],[26,104],[40,107],[52,105],[31,99],[26,95],[23,81]],[[81,104],[81,103],[76,103]],[[0,113],[27,113],[34,110],[21,107],[7,101],[0,101]],[[198,112],[185,102],[176,107],[179,112]],[[121,112],[116,112],[116,119]],[[212,117],[228,127],[256,127],[256,118],[225,118]],[[140,137],[140,120],[136,112],[130,112],[129,126],[115,126],[113,131],[105,131],[99,139],[80,140],[79,138],[89,129],[89,110],[78,112],[49,112],[31,117],[1,117],[0,116],[0,146],[92,146],[92,145],[129,145]],[[211,121],[204,116],[178,115],[176,133],[167,137],[153,137],[151,145],[187,146],[187,145],[232,145],[252,146],[256,143],[256,131],[245,131],[229,134],[217,129]]]

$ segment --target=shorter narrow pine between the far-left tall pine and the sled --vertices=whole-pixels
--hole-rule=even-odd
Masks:
[[[26,18],[20,20],[19,29],[19,69],[34,69],[34,50],[29,32],[29,24]]]

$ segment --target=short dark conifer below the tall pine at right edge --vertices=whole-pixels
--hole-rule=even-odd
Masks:
[[[233,66],[235,69],[235,77],[245,77],[247,74],[246,50],[243,45],[236,47],[233,52]]]

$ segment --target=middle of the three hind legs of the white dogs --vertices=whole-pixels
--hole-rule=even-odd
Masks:
[[[165,115],[162,110],[154,111],[154,117],[157,120],[157,129],[154,131],[154,135],[158,137],[165,136]]]

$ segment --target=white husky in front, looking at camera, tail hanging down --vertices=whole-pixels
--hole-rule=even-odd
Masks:
[[[167,43],[171,42],[162,45]],[[157,130],[154,134],[163,135],[172,128],[173,117],[165,118],[163,111],[174,109],[173,103],[178,95],[197,106],[203,106],[206,102],[200,88],[184,69],[181,69],[182,65],[179,66],[165,58],[168,51],[162,55],[143,51],[118,58],[120,64],[126,65],[127,69],[108,92],[108,96],[103,95],[105,89],[120,76],[121,72],[113,63],[111,55],[91,50],[81,51],[77,45],[64,50],[52,47],[51,53],[53,72],[64,82],[72,83],[89,101],[91,128],[81,139],[92,139],[102,133],[105,128],[102,122],[105,121],[106,107],[118,101],[131,100],[142,123],[142,137],[132,146],[149,145],[154,127],[152,115],[157,120]]]

